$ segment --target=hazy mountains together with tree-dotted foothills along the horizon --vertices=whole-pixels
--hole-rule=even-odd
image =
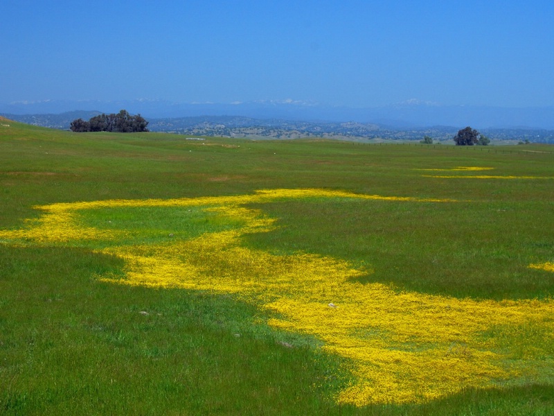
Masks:
[[[80,105],[98,110],[63,111]],[[449,140],[460,128],[471,125],[493,140],[554,143],[554,107],[446,107],[419,101],[370,109],[325,107],[292,100],[232,104],[42,101],[0,105],[0,115],[23,123],[69,129],[75,119],[88,120],[102,112],[116,113],[122,109],[144,116],[152,131],[184,135],[346,140],[418,140],[427,135],[435,140]]]

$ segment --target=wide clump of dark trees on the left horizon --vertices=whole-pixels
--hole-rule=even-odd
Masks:
[[[89,121],[76,119],[71,121],[70,129],[73,132],[148,132],[148,121],[141,114],[132,116],[127,110],[121,110],[118,114],[100,114]]]

